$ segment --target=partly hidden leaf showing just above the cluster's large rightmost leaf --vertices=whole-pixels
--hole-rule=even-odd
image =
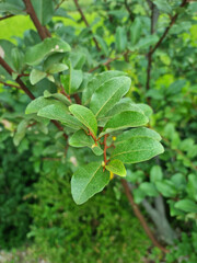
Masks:
[[[128,140],[128,139],[131,139],[135,137],[137,137],[137,138],[148,137],[148,138],[152,138],[158,141],[161,140],[161,136],[153,129],[140,127],[140,128],[130,129],[128,132],[124,132],[123,134],[118,135],[116,138],[116,144],[123,142],[125,140]]]

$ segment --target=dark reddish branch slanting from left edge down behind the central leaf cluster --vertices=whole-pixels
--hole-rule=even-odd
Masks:
[[[0,57],[0,65],[7,70],[9,75],[12,76],[12,73],[14,72],[13,69],[3,60],[2,57]],[[20,84],[20,88],[27,94],[27,96],[30,96],[31,100],[35,100],[34,94],[28,90],[28,88],[24,84],[24,82],[20,79],[20,77],[16,78],[15,82]],[[58,122],[53,119],[51,123],[54,123],[54,125],[56,125],[56,127],[59,130],[63,132],[63,128]],[[68,136],[65,133],[63,133],[63,137],[65,139],[68,139]]]

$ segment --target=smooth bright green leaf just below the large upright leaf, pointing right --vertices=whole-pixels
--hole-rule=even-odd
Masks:
[[[118,129],[146,125],[149,119],[140,112],[127,111],[113,116],[105,125],[101,136]]]

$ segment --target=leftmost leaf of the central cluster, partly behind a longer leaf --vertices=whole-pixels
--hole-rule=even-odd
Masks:
[[[56,103],[56,100],[39,96],[33,100],[26,107],[25,114],[37,113],[42,107]]]

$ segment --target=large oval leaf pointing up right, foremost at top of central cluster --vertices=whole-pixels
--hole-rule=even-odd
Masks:
[[[128,92],[130,83],[128,77],[116,77],[104,82],[91,99],[90,108],[95,116],[105,115]]]

